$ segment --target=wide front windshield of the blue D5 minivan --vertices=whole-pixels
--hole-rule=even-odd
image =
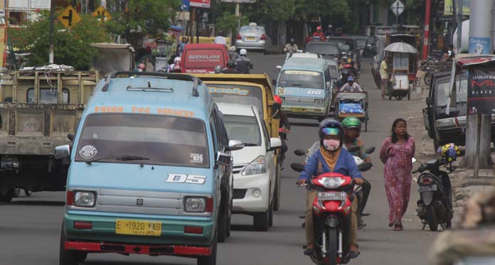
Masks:
[[[206,127],[200,119],[154,114],[90,114],[75,161],[208,168]],[[123,161],[119,156],[142,157]]]

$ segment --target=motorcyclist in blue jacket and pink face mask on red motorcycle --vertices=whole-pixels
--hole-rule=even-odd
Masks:
[[[344,144],[344,130],[339,121],[334,119],[324,119],[319,125],[319,150],[316,151],[304,166],[304,171],[299,175],[297,183],[304,185],[314,175],[321,173],[341,173],[348,175],[357,185],[363,184],[364,180],[361,172],[356,166],[353,156],[346,149],[342,148]],[[306,208],[306,240],[307,249],[304,254],[311,255],[314,252],[314,228],[313,228],[313,202],[316,198],[317,191],[309,190],[307,193]],[[349,256],[351,259],[359,255],[358,251],[358,221],[356,216],[357,200],[353,200],[351,206],[351,232],[349,233]]]

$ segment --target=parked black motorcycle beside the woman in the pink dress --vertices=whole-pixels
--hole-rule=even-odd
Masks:
[[[413,163],[415,162],[413,158]],[[452,226],[452,185],[450,184],[449,173],[454,172],[452,162],[444,159],[432,159],[421,166],[413,173],[420,173],[417,178],[417,191],[420,193],[420,200],[417,201],[417,216],[423,224],[430,230],[437,231],[438,225],[442,229]],[[440,166],[445,166],[446,171],[441,171]]]

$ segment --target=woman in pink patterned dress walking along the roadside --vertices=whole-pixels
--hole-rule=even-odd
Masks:
[[[408,209],[411,191],[415,142],[408,134],[407,126],[404,119],[393,121],[392,136],[383,141],[380,150],[380,160],[385,164],[385,192],[390,207],[388,226],[395,231],[403,229],[401,221]]]

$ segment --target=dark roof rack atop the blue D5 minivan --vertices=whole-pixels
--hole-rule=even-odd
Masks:
[[[107,77],[105,77],[105,85],[102,87],[102,91],[107,91],[110,85],[110,80],[112,78],[128,78],[128,77],[156,77],[164,78],[169,80],[180,80],[193,82],[193,97],[199,97],[198,85],[201,85],[201,80],[192,75],[182,75],[182,74],[167,74],[163,72],[132,72],[132,71],[115,71],[110,72]]]

